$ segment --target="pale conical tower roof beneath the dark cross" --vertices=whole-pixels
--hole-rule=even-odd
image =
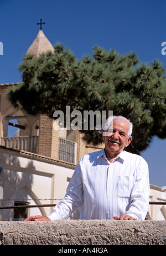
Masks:
[[[54,52],[54,47],[48,38],[46,38],[43,30],[40,29],[37,37],[34,39],[26,54],[33,53],[34,56],[39,57],[40,54],[48,51]]]

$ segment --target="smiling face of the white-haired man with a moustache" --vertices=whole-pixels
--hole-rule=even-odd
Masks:
[[[113,126],[106,131],[106,136],[103,136],[105,141],[105,149],[107,153],[119,154],[131,143],[132,137],[127,137],[129,124],[126,121],[113,121]]]

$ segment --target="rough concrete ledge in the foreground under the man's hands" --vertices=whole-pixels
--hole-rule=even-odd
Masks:
[[[164,245],[166,221],[0,222],[1,245]]]

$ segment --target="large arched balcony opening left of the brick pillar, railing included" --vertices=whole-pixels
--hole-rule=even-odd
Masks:
[[[17,150],[38,153],[39,117],[23,110],[9,109],[2,121],[1,145]]]

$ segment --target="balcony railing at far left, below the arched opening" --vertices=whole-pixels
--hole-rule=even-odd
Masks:
[[[12,149],[38,153],[38,136],[3,137],[1,145]]]

